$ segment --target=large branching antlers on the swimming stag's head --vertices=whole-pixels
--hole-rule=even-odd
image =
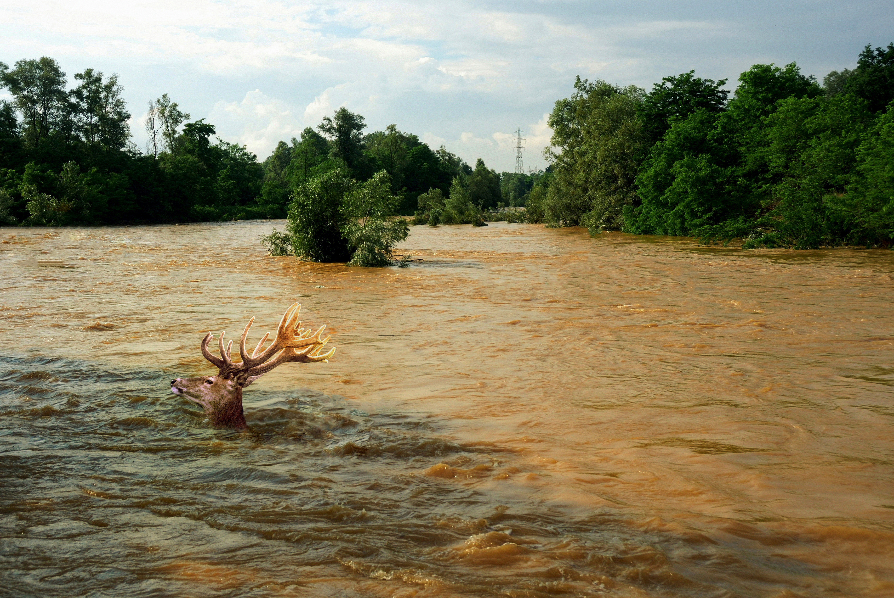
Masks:
[[[228,377],[236,374],[244,374],[251,378],[257,378],[274,369],[274,367],[289,361],[300,361],[304,363],[326,361],[335,354],[334,349],[325,353],[321,352],[325,347],[326,342],[329,341],[328,336],[325,339],[322,338],[326,326],[324,324],[320,326],[316,333],[308,334],[310,332],[309,329],[301,328],[301,323],[298,321],[300,309],[301,305],[299,303],[293,303],[286,309],[283,314],[283,319],[280,320],[279,327],[276,329],[276,336],[274,337],[273,343],[264,349],[264,343],[266,342],[267,337],[270,336],[270,333],[266,333],[264,338],[262,338],[255,346],[255,350],[249,355],[248,350],[245,348],[245,341],[248,339],[251,324],[255,323],[255,318],[252,316],[251,319],[249,319],[249,324],[246,324],[245,330],[242,331],[242,337],[239,342],[239,354],[242,358],[241,362],[233,362],[230,358],[232,341],[227,343],[226,349],[223,348],[223,335],[225,333],[221,333],[220,337],[217,339],[218,348],[220,350],[219,358],[208,350],[208,343],[215,338],[212,333],[207,333],[202,340],[202,355],[204,355],[212,364],[217,366],[220,369],[221,374],[227,375]]]

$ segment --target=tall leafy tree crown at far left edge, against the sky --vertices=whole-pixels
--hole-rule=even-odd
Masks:
[[[9,88],[24,119],[24,136],[38,146],[63,123],[69,112],[65,73],[52,58],[20,60],[10,71],[0,63],[0,81]]]

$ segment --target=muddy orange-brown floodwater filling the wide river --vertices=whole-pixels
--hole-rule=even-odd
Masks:
[[[274,225],[0,229],[0,594],[894,595],[894,252]],[[296,300],[249,433],[170,394]]]

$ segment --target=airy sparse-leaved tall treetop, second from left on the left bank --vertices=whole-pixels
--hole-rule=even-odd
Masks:
[[[126,110],[122,97],[124,89],[118,84],[118,75],[103,80],[103,73],[87,69],[74,76],[80,81],[72,89],[74,121],[80,138],[89,147],[122,149],[131,137],[127,121],[131,113]]]

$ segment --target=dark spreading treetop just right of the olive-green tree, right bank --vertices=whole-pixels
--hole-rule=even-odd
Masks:
[[[672,119],[686,118],[696,110],[723,112],[730,92],[721,89],[727,80],[714,81],[694,76],[695,71],[663,77],[637,105],[643,127],[654,143],[671,128]]]

